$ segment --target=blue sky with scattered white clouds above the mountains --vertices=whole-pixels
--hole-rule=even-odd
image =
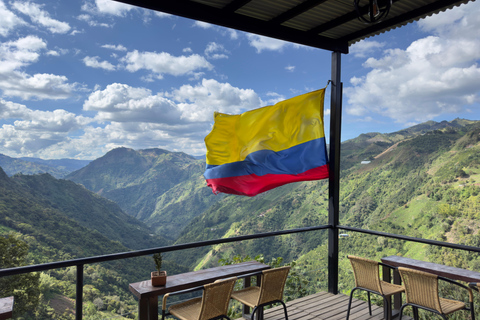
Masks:
[[[213,112],[323,88],[331,53],[110,0],[0,0],[0,153],[95,159],[205,153]],[[480,120],[480,3],[342,55],[342,140],[427,120]],[[329,92],[329,90],[327,90]],[[330,96],[325,110],[328,134]]]

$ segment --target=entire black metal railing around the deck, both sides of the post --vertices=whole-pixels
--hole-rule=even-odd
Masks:
[[[76,278],[75,318],[77,320],[81,320],[83,317],[83,269],[84,269],[84,265],[86,264],[146,256],[146,255],[151,255],[157,252],[164,253],[164,252],[178,251],[178,250],[184,250],[184,249],[206,247],[206,246],[223,244],[223,243],[240,242],[245,240],[275,237],[275,236],[281,236],[286,234],[310,232],[310,231],[325,230],[325,229],[336,229],[337,231],[339,229],[348,230],[353,232],[387,237],[387,238],[394,238],[394,239],[399,239],[404,241],[412,241],[412,242],[424,243],[424,244],[429,244],[429,245],[434,245],[439,247],[446,247],[446,248],[452,248],[456,250],[465,250],[465,251],[480,253],[479,247],[465,246],[465,245],[459,245],[459,244],[441,242],[441,241],[429,240],[429,239],[421,239],[421,238],[403,236],[403,235],[386,233],[381,231],[353,228],[353,227],[342,226],[342,225],[338,225],[336,228],[329,225],[322,225],[322,226],[304,227],[304,228],[296,228],[296,229],[274,231],[274,232],[265,232],[265,233],[245,235],[245,236],[237,236],[232,238],[214,239],[214,240],[206,240],[206,241],[199,241],[199,242],[192,242],[192,243],[185,243],[185,244],[177,244],[172,246],[149,248],[149,249],[129,251],[129,252],[113,253],[113,254],[102,255],[102,256],[79,258],[79,259],[72,259],[72,260],[66,260],[66,261],[44,263],[39,265],[30,265],[30,266],[24,266],[24,267],[1,269],[0,277],[76,266],[77,278]],[[329,273],[330,273],[330,270],[329,270]]]

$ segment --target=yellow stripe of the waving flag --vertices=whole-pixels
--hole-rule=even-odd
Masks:
[[[325,89],[240,115],[215,112],[213,129],[205,137],[208,165],[243,161],[259,150],[281,151],[324,137]]]

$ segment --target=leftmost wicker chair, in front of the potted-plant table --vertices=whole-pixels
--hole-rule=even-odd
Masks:
[[[167,315],[166,306],[167,298],[169,296],[201,289],[204,290],[202,297],[172,305],[168,308],[169,313],[181,320],[209,320],[221,318],[230,320],[227,316],[228,303],[230,302],[230,295],[232,294],[236,280],[237,278],[217,280],[214,283],[206,284],[202,287],[165,294],[162,303],[162,320],[165,319],[165,316]]]

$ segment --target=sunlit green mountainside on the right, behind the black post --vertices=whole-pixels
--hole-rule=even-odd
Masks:
[[[342,156],[346,154],[342,161],[347,163],[342,163],[341,172],[341,224],[480,244],[478,122],[429,122],[400,133],[373,133],[355,140],[342,144]],[[362,164],[363,160],[370,162]],[[177,243],[326,224],[327,197],[326,181],[291,184],[254,198],[226,196],[195,218]],[[406,254],[424,259],[431,255],[432,260],[440,257],[435,248],[362,234],[349,236],[341,241],[345,245],[341,257],[352,253],[370,257]],[[235,254],[263,254],[267,259],[282,256],[287,261],[298,259],[306,270],[317,268],[315,272],[323,274],[318,264],[312,267],[311,257],[326,254],[325,238],[324,231],[309,232],[177,255],[196,266],[212,265]],[[443,253],[441,257],[448,260],[457,255],[462,253]],[[476,258],[468,260],[466,256],[456,257],[455,265],[476,263]],[[348,262],[345,266],[349,270]]]

